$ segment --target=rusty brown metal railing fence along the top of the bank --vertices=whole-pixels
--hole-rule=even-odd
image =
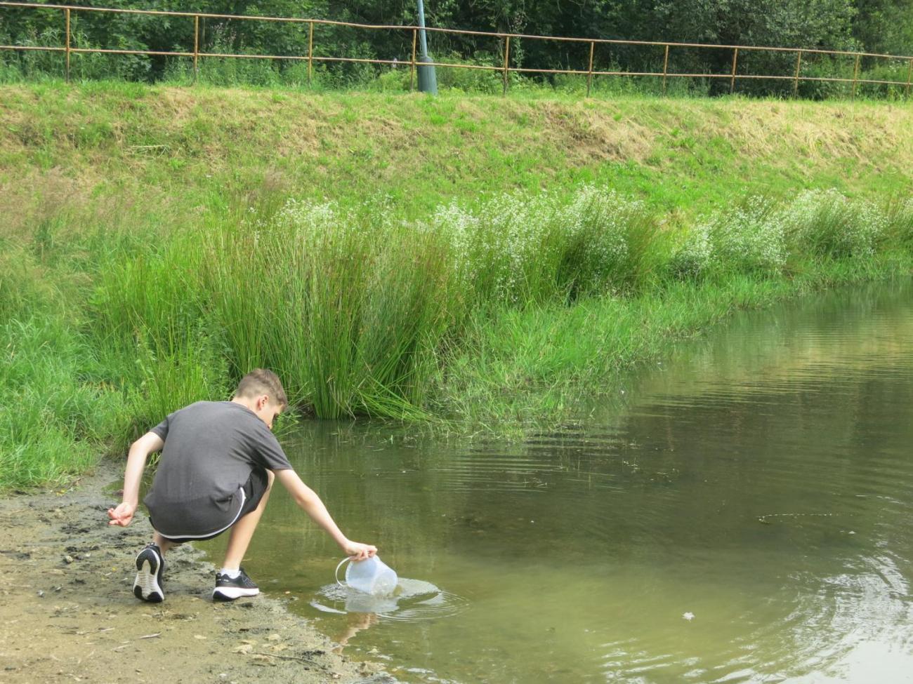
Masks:
[[[308,64],[308,80],[310,82],[313,73],[313,67],[315,62],[356,62],[356,63],[367,63],[367,64],[377,64],[377,65],[388,65],[402,67],[407,65],[410,68],[410,89],[415,88],[415,69],[423,65],[433,66],[433,67],[452,67],[452,68],[462,68],[462,69],[481,69],[486,71],[498,72],[501,75],[503,81],[503,92],[507,92],[509,86],[509,74],[568,74],[576,75],[586,78],[586,95],[590,96],[591,88],[593,86],[593,78],[600,76],[613,76],[613,77],[646,77],[646,78],[661,78],[662,79],[662,88],[663,92],[666,92],[666,82],[669,78],[716,78],[724,79],[729,81],[729,92],[734,92],[736,88],[736,82],[739,80],[780,80],[786,82],[792,82],[792,94],[793,96],[798,95],[799,84],[800,82],[805,81],[817,81],[817,82],[831,82],[831,83],[845,83],[852,84],[851,93],[852,97],[855,98],[856,88],[860,84],[875,84],[883,86],[898,86],[903,88],[904,97],[908,98],[910,93],[910,83],[911,77],[913,77],[913,57],[911,56],[900,56],[900,55],[882,55],[869,52],[850,52],[846,50],[824,50],[824,49],[813,49],[813,48],[803,48],[803,47],[760,47],[760,46],[735,46],[735,45],[710,45],[704,43],[666,43],[666,42],[656,42],[656,41],[644,41],[644,40],[620,40],[620,39],[607,39],[607,38],[573,38],[573,37],[561,37],[561,36],[530,36],[525,34],[513,34],[513,33],[489,33],[484,31],[464,31],[459,29],[452,28],[437,28],[437,27],[428,27],[424,30],[429,33],[445,34],[452,36],[485,36],[488,38],[495,39],[500,44],[499,53],[502,57],[499,59],[498,64],[484,65],[484,64],[461,64],[455,62],[446,62],[446,61],[432,61],[432,62],[421,62],[416,60],[415,47],[416,40],[418,37],[418,31],[420,30],[418,26],[381,26],[381,25],[366,25],[366,24],[352,24],[349,22],[338,22],[338,21],[329,21],[325,19],[303,19],[303,18],[293,18],[293,17],[281,17],[281,16],[243,16],[243,15],[215,15],[215,14],[206,14],[201,12],[165,12],[159,10],[139,10],[139,9],[110,9],[102,7],[84,7],[79,5],[39,5],[33,3],[16,3],[16,2],[0,2],[0,7],[19,7],[19,8],[31,8],[36,10],[48,10],[54,9],[61,12],[61,23],[64,28],[64,44],[62,46],[16,46],[16,45],[0,45],[0,50],[17,50],[17,51],[29,51],[29,50],[39,50],[46,52],[59,52],[63,53],[66,65],[66,75],[69,80],[70,76],[70,60],[73,55],[81,54],[109,54],[109,55],[146,55],[152,57],[187,57],[193,58],[194,62],[194,78],[198,73],[200,60],[206,57],[220,57],[220,58],[237,58],[237,59],[270,59],[270,60],[292,60],[292,61],[301,61],[307,62]],[[170,16],[170,17],[184,17],[187,21],[194,22],[194,49],[190,51],[156,51],[156,50],[139,50],[139,49],[110,49],[110,48],[100,48],[100,47],[74,47],[72,45],[72,32],[71,32],[71,18],[75,13],[80,12],[101,12],[101,13],[111,13],[119,15],[147,15],[147,16]],[[308,50],[307,54],[299,55],[249,55],[249,54],[230,54],[230,53],[218,53],[218,52],[203,52],[200,49],[200,20],[201,19],[225,19],[225,20],[239,20],[239,21],[255,21],[255,22],[285,22],[291,24],[307,24],[309,26],[308,31]],[[407,37],[411,38],[412,41],[412,54],[408,59],[400,60],[399,58],[394,59],[370,59],[370,58],[359,58],[359,57],[326,57],[326,56],[317,56],[314,54],[314,26],[349,26],[352,28],[363,29],[366,31],[396,31],[404,32]],[[561,41],[575,44],[582,44],[582,46],[589,47],[589,62],[586,69],[559,69],[559,68],[530,68],[530,67],[511,67],[510,66],[510,41],[517,41],[518,39],[524,40],[540,40],[540,41]],[[597,65],[594,64],[594,55],[597,46],[640,46],[640,47],[657,47],[662,48],[663,50],[663,70],[662,71],[624,71],[624,70],[604,70],[596,68]],[[682,50],[682,49],[701,49],[701,50],[711,50],[711,51],[731,51],[732,61],[731,68],[723,73],[680,73],[669,71],[669,52],[671,50]],[[792,69],[791,73],[788,74],[749,74],[749,73],[739,73],[739,57],[740,55],[745,55],[749,52],[767,52],[767,53],[792,53],[795,54],[795,67]],[[803,75],[802,66],[803,66],[803,57],[810,56],[832,56],[832,57],[845,57],[852,58],[854,60],[853,67],[853,77],[852,78],[842,78],[842,77],[823,77],[823,76],[806,76]],[[895,63],[906,63],[907,64],[907,78],[906,80],[888,80],[888,79],[875,79],[875,78],[860,78],[860,65],[863,58],[871,59],[882,59],[890,60]]]

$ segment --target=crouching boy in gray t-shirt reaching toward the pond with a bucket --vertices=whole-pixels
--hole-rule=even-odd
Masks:
[[[134,596],[151,603],[163,601],[164,554],[177,544],[212,539],[226,530],[230,530],[226,559],[215,575],[213,598],[233,601],[259,594],[241,559],[276,478],[353,560],[377,553],[371,544],[347,539],[320,497],[292,470],[270,431],[288,403],[276,374],[257,368],[241,378],[231,401],[198,401],[175,411],[133,442],[123,478],[123,501],[108,510],[111,525],[130,524],[146,459],[163,449],[152,488],[143,499],[153,534],[152,543],[136,556]]]

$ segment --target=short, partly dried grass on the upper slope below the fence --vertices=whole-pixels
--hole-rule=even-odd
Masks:
[[[593,182],[700,212],[746,193],[907,192],[913,165],[903,104],[276,92],[0,87],[0,177],[16,181],[0,210],[16,225],[66,192],[71,206],[116,202],[146,223],[280,192],[343,206],[389,195],[417,216]]]

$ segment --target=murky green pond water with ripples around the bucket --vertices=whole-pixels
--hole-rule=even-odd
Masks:
[[[308,423],[246,562],[407,682],[913,681],[913,286],[740,314],[520,444]],[[218,554],[224,542],[207,544]]]

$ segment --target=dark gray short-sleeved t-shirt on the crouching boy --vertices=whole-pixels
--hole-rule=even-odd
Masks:
[[[203,537],[233,523],[242,487],[256,468],[290,470],[275,435],[257,414],[232,401],[198,401],[152,428],[164,442],[143,499],[166,537]]]

